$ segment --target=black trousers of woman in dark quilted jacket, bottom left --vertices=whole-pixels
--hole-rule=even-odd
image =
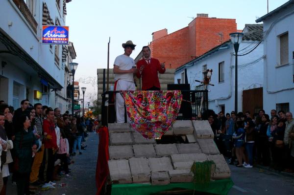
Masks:
[[[29,175],[30,173],[19,173],[16,174],[16,187],[17,195],[29,195]]]

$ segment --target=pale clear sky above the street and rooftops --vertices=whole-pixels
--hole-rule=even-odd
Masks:
[[[109,68],[113,68],[128,40],[137,45],[130,56],[135,59],[152,41],[152,32],[167,28],[170,34],[188,26],[197,13],[236,19],[242,30],[267,14],[267,1],[272,11],[288,0],[72,0],[67,3],[66,25],[77,54],[73,62],[79,64],[75,80],[87,87],[85,102],[97,97],[97,68],[107,68],[109,37]]]

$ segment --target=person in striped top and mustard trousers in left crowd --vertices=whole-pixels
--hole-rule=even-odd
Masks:
[[[42,104],[37,103],[34,105],[34,109],[36,110],[36,117],[34,119],[36,130],[38,133],[38,136],[40,138],[40,141],[43,142],[43,109]],[[41,149],[35,154],[35,158],[32,165],[32,171],[29,176],[29,181],[34,186],[41,186],[43,182],[38,180],[39,170],[43,161],[43,155],[44,155],[44,144],[42,144]],[[43,173],[40,173],[40,175]]]

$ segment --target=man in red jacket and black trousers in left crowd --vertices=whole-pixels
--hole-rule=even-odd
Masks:
[[[52,173],[54,169],[54,152],[58,149],[54,125],[54,111],[50,108],[46,110],[46,120],[43,121],[43,131],[44,131],[44,157],[41,167],[40,175],[44,182],[49,183],[52,180]]]

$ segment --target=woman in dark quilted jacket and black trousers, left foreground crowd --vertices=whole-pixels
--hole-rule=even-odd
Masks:
[[[35,135],[29,129],[30,120],[27,116],[20,117],[22,129],[15,135],[14,148],[17,160],[15,161],[15,174],[17,183],[17,194],[29,194],[29,175],[31,172],[32,155],[38,148],[38,142]]]

